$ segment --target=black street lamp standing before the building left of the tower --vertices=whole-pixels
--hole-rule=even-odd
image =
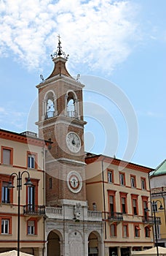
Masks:
[[[17,256],[20,256],[20,189],[22,189],[22,176],[23,173],[27,173],[28,174],[28,178],[27,181],[25,182],[25,186],[28,187],[32,187],[33,184],[31,182],[31,178],[30,175],[28,173],[27,170],[24,170],[22,173],[20,173],[20,171],[17,173],[12,173],[9,176],[9,183],[7,185],[8,189],[13,189],[14,186],[12,185],[12,181],[11,178],[12,176],[16,176],[17,177],[17,191],[18,191],[18,214],[17,214]]]

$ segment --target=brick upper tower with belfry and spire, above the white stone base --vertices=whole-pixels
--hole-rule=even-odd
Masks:
[[[54,69],[39,83],[39,138],[50,140],[46,153],[46,203],[86,201],[82,89],[66,69],[68,55],[58,48],[51,55]]]

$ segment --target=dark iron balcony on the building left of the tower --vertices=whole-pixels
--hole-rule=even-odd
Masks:
[[[23,206],[23,214],[44,216],[45,215],[45,207],[44,206],[36,206],[36,205]]]

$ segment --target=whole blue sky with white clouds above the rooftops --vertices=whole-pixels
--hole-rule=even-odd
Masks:
[[[66,67],[84,83],[85,150],[156,168],[165,159],[165,0],[0,0],[0,128],[31,130],[36,85]]]

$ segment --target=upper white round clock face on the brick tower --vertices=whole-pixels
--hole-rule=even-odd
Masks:
[[[75,132],[68,132],[66,143],[71,152],[77,153],[81,148],[81,140]]]

